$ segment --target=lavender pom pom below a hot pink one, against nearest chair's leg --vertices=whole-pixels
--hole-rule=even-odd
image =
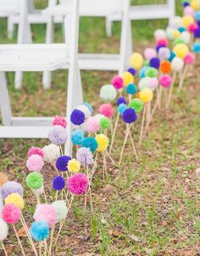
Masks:
[[[55,145],[62,145],[67,141],[67,130],[61,125],[54,125],[48,131],[49,140]]]

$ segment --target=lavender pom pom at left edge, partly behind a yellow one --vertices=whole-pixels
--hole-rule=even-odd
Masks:
[[[16,181],[8,181],[4,183],[1,187],[1,192],[3,200],[5,200],[5,198],[7,198],[12,193],[18,193],[21,197],[24,196],[23,187]]]

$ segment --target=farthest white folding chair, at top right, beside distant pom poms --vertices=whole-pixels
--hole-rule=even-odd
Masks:
[[[164,4],[131,5],[129,17],[139,19],[172,19],[175,17],[175,0],[166,0]],[[112,36],[112,24],[122,19],[120,14],[111,14],[106,19],[107,36]]]

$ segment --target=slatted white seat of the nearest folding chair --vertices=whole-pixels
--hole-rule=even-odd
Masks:
[[[53,71],[68,66],[64,43],[0,45],[0,71]]]

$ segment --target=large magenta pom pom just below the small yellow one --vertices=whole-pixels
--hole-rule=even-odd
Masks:
[[[88,186],[88,180],[86,175],[81,173],[71,175],[67,183],[69,192],[72,192],[75,195],[84,194]]]

